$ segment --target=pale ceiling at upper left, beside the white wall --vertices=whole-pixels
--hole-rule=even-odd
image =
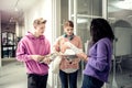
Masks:
[[[23,12],[31,8],[37,0],[0,0],[2,23],[23,22]]]

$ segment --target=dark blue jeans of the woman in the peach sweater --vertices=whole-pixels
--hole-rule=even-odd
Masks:
[[[69,88],[77,88],[77,74],[78,70],[70,74],[59,70],[62,88],[68,88],[68,80],[69,80]]]

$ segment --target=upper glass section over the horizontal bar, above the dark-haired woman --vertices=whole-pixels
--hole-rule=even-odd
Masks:
[[[102,0],[77,0],[77,13],[102,15]]]

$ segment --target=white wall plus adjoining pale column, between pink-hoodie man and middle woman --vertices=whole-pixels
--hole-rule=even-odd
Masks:
[[[28,31],[33,30],[33,21],[36,18],[44,18],[47,20],[44,35],[50,40],[51,45],[56,37],[61,34],[61,0],[38,0],[31,9],[24,13],[24,31],[22,35],[25,35]],[[51,72],[48,73],[48,88],[57,87],[57,77]]]

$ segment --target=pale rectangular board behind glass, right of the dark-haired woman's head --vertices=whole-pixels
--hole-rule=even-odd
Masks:
[[[116,28],[116,56],[132,54],[132,29]]]

